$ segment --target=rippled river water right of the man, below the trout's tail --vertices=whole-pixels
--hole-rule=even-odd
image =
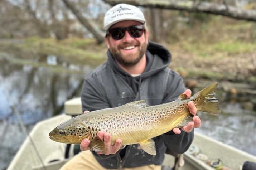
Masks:
[[[253,96],[234,96],[218,93],[221,114],[198,112],[202,125],[197,132],[256,155],[256,111]],[[249,105],[250,107],[244,107]]]

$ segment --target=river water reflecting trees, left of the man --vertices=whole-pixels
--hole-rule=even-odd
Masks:
[[[37,55],[24,63],[13,54],[0,53],[0,76],[4,82],[0,85],[0,170],[9,165],[25,139],[3,85],[9,89],[30,131],[35,123],[62,113],[67,99],[80,96],[83,79],[91,71],[90,66],[59,62],[53,55]]]

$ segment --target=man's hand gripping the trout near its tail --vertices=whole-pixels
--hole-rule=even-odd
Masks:
[[[187,89],[184,94],[187,94],[188,98],[191,96],[191,90]],[[189,111],[192,115],[194,115],[193,117],[193,122],[189,122],[187,126],[184,126],[182,129],[185,132],[191,132],[193,130],[193,128],[199,128],[201,126],[201,120],[198,116],[195,116],[195,114],[197,113],[197,108],[195,107],[194,102],[190,101],[188,102],[188,108]],[[179,128],[173,128],[173,132],[175,134],[180,134],[181,131]]]

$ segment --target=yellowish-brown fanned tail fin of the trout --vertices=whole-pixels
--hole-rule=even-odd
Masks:
[[[217,82],[213,83],[195,94],[198,98],[200,98],[198,103],[195,105],[197,110],[212,114],[221,113],[218,106],[218,100],[214,97],[217,84]]]

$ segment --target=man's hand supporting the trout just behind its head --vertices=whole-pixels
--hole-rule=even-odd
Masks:
[[[88,113],[89,111],[84,111],[84,113]],[[104,142],[105,144],[105,149],[101,152],[97,152],[98,154],[105,154],[105,155],[109,155],[109,154],[115,154],[117,151],[119,151],[121,144],[122,144],[122,140],[121,139],[117,139],[115,144],[112,146],[111,145],[111,136],[109,133],[105,133],[103,131],[99,131],[98,132],[98,137],[100,137],[100,139]],[[88,147],[90,144],[89,139],[83,139],[81,144],[80,144],[80,149],[81,151],[87,151],[90,148]]]

